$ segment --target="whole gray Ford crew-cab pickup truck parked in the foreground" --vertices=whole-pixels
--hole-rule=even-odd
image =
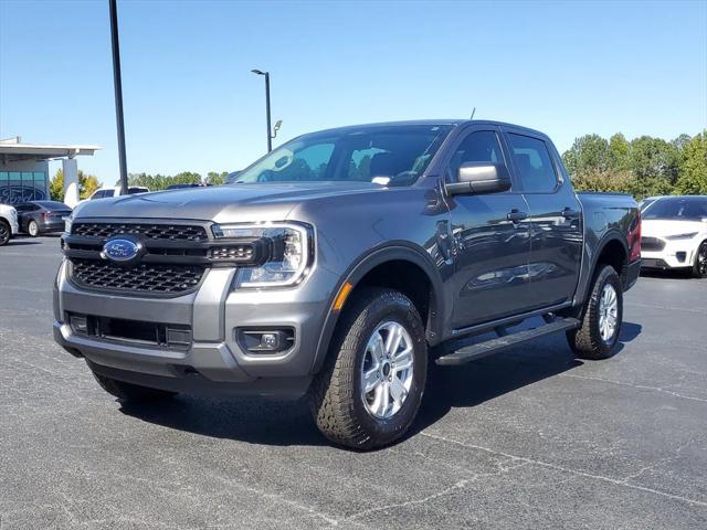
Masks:
[[[122,401],[307,395],[325,436],[368,449],[410,427],[429,363],[556,332],[611,356],[640,240],[634,200],[574,193],[536,130],[344,127],[230,186],[80,205],[54,337]]]

